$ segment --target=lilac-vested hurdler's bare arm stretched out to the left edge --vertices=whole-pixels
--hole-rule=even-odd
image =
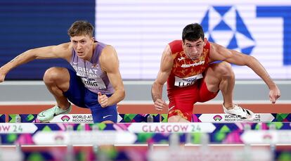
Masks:
[[[6,74],[14,67],[28,63],[34,59],[46,59],[46,58],[65,58],[70,59],[70,53],[68,49],[69,43],[60,44],[58,46],[46,46],[36,49],[30,49],[16,56],[10,62],[0,67],[0,82],[4,82]]]

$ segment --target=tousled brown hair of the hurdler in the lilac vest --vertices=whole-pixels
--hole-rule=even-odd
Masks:
[[[70,29],[67,30],[67,34],[70,37],[81,36],[81,35],[89,35],[93,37],[93,30],[94,27],[91,23],[87,22],[86,20],[77,20],[74,22]]]

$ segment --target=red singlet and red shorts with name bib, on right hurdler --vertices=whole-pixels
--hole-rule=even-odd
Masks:
[[[209,66],[210,44],[205,40],[202,55],[198,60],[187,58],[183,51],[182,40],[169,43],[174,57],[174,65],[167,80],[169,97],[168,118],[179,115],[192,121],[193,104],[213,99],[218,92],[207,89],[203,75]]]

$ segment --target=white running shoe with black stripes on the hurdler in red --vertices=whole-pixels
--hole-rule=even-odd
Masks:
[[[245,121],[253,121],[254,120],[254,112],[251,110],[247,110],[245,108],[241,108],[240,106],[233,104],[234,107],[231,110],[227,110],[224,107],[224,104],[222,104],[222,107],[224,108],[224,112],[227,114],[238,116],[241,120]]]

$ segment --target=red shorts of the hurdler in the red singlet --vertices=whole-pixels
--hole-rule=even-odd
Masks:
[[[176,87],[168,91],[169,112],[168,118],[179,115],[192,122],[193,105],[197,102],[206,102],[218,94],[207,89],[204,79],[198,80],[192,86]]]

